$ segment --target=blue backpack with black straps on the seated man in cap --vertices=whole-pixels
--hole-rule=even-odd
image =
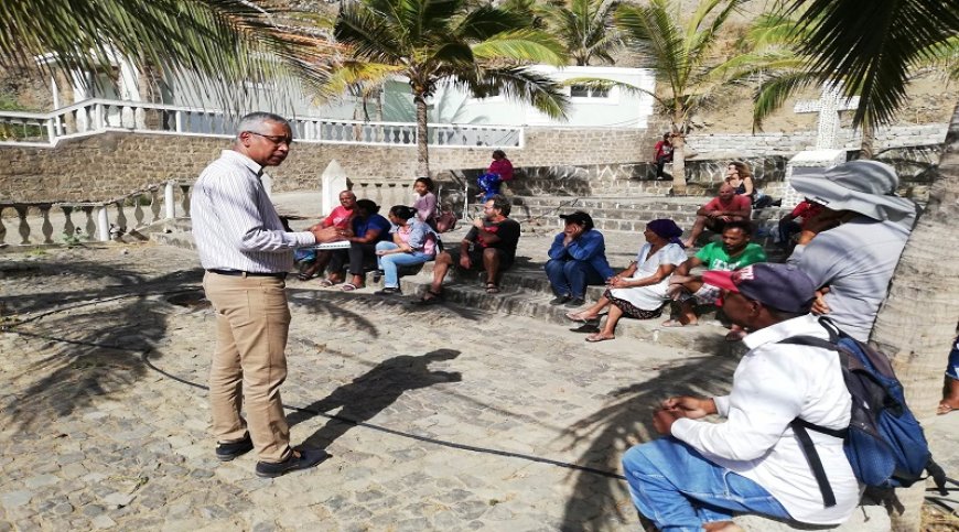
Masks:
[[[837,351],[845,387],[852,395],[852,415],[845,430],[826,428],[798,417],[790,424],[819,484],[826,508],[836,506],[836,497],[807,428],[842,438],[855,478],[866,486],[905,488],[926,478],[923,473],[928,471],[939,490],[945,491],[946,473],[933,462],[923,427],[906,405],[903,384],[896,379],[888,357],[847,335],[829,319],[821,318],[820,323],[829,330],[830,340],[794,336],[780,344]]]

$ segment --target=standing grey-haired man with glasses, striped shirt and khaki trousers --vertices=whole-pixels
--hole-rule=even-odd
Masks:
[[[293,250],[315,243],[321,230],[285,231],[261,182],[265,166],[287,159],[293,142],[289,122],[254,112],[240,119],[237,131],[233,148],[200,175],[191,200],[193,236],[206,270],[203,289],[216,311],[213,432],[219,460],[256,447],[256,474],[278,477],[328,456],[290,447],[280,399],[290,328],[284,279]]]

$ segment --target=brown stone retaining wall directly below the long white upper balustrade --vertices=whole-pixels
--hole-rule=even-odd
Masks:
[[[170,178],[193,180],[229,145],[228,139],[151,133],[105,133],[61,142],[56,148],[0,146],[0,200],[104,200]],[[527,128],[526,145],[507,152],[517,166],[599,164],[643,159],[646,131]],[[650,144],[651,145],[651,144]],[[435,171],[478,169],[491,162],[482,148],[432,148]],[[353,181],[410,180],[416,146],[299,143],[282,166],[271,169],[273,191],[320,187],[337,160]]]

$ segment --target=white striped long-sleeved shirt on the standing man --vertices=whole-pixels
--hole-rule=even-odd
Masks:
[[[193,238],[206,270],[288,272],[293,249],[316,243],[312,232],[287,232],[260,181],[262,166],[224,150],[200,174],[190,202]]]

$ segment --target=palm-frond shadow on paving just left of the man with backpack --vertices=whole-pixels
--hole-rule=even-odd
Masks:
[[[577,464],[621,473],[619,459],[626,449],[658,437],[651,420],[664,399],[725,394],[737,363],[734,357],[701,356],[660,368],[653,379],[612,391],[605,408],[574,422],[560,438],[569,442],[568,448],[591,442]],[[573,471],[570,478],[573,495],[567,501],[561,530],[619,529],[636,519],[625,480],[589,471]]]

